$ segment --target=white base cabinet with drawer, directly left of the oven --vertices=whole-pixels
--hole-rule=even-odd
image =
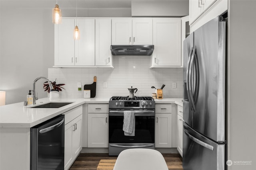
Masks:
[[[108,104],[88,104],[88,148],[108,147]]]

